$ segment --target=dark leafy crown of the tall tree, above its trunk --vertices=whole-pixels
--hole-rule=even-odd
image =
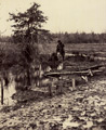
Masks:
[[[40,5],[34,3],[31,8],[27,9],[24,13],[13,14],[10,13],[10,21],[14,21],[14,36],[15,41],[32,42],[38,41],[38,32],[48,31],[41,29],[42,24],[47,22],[47,16],[39,10]]]

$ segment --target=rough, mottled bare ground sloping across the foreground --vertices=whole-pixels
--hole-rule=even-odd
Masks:
[[[106,130],[106,79],[0,114],[0,130]]]

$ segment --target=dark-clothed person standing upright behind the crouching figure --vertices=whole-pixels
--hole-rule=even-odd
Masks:
[[[65,57],[65,49],[64,49],[64,47],[65,46],[64,46],[64,43],[62,43],[61,40],[58,40],[57,42],[58,42],[58,44],[56,47],[56,53],[59,53],[62,55],[62,57],[63,57],[63,61],[64,61],[64,57]]]

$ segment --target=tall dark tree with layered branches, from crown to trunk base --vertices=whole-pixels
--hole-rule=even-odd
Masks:
[[[38,32],[48,31],[41,29],[42,24],[47,22],[47,16],[43,16],[43,12],[39,10],[40,5],[34,3],[24,13],[10,13],[10,21],[14,21],[14,38],[21,42],[21,52],[23,55],[23,67],[27,74],[27,86],[30,86],[30,69],[35,57],[38,55],[37,46]]]

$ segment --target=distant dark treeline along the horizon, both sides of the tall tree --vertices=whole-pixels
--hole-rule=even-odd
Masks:
[[[61,39],[64,43],[106,43],[106,32],[95,34],[95,32],[58,32],[58,34],[48,34],[39,37],[40,42],[52,42]],[[17,41],[17,39],[16,39]],[[0,37],[0,42],[14,42],[14,37]],[[18,41],[17,41],[18,42]]]

